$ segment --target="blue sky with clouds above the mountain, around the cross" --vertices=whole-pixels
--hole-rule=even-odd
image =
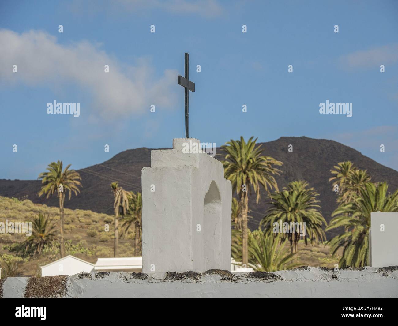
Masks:
[[[0,178],[185,137],[184,52],[191,137],[333,139],[398,170],[397,17],[396,1],[2,1]],[[80,117],[47,114],[54,100]],[[353,116],[320,114],[326,100]]]

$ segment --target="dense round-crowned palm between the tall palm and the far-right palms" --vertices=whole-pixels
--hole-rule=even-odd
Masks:
[[[303,223],[305,225],[305,243],[307,236],[312,241],[318,242],[326,240],[322,223],[326,224],[322,213],[319,211],[320,205],[315,198],[319,194],[314,188],[308,188],[308,183],[300,180],[293,181],[283,187],[283,191],[277,191],[271,194],[272,201],[268,202],[271,207],[265,212],[265,217],[260,222],[260,226],[266,226],[265,232],[268,235],[273,233],[273,223]],[[305,223],[305,224],[304,224]],[[300,224],[296,224],[300,225]],[[279,225],[282,228],[282,225]],[[279,236],[279,233],[275,233]],[[284,233],[283,240],[288,238],[290,241],[291,252],[297,252],[297,243],[300,240],[300,233]]]

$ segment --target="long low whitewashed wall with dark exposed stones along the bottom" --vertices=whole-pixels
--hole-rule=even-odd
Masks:
[[[1,284],[2,283],[2,284]],[[10,277],[3,298],[398,298],[398,266],[298,267],[273,273],[97,272]]]

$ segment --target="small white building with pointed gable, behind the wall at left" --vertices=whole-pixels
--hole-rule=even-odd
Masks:
[[[41,266],[41,276],[68,275],[72,276],[80,272],[90,273],[94,264],[86,262],[72,255],[65,256],[55,262]]]

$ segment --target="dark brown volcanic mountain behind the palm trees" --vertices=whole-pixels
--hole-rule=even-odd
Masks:
[[[312,139],[307,137],[281,137],[276,141],[261,143],[263,154],[282,161],[280,168],[283,173],[276,177],[278,187],[281,189],[293,180],[306,180],[314,187],[320,196],[322,213],[326,221],[330,221],[331,213],[336,209],[336,193],[332,191],[332,185],[328,182],[330,169],[338,162],[350,160],[355,166],[368,170],[373,182],[386,181],[389,191],[398,188],[398,172],[383,166],[371,158],[362,155],[357,150],[326,139]],[[293,145],[293,152],[288,152],[289,144]],[[65,201],[65,207],[70,209],[89,209],[91,211],[112,214],[113,193],[109,184],[118,181],[126,190],[137,191],[141,189],[141,169],[150,166],[149,148],[136,148],[125,150],[110,160],[78,170],[82,177],[83,188],[81,193],[70,201]],[[216,150],[217,159],[224,158],[220,148]],[[56,160],[56,158],[55,158]],[[66,162],[65,162],[66,163]],[[43,166],[43,171],[45,166]],[[49,200],[38,198],[40,189],[38,180],[0,180],[0,195],[6,197],[21,198],[28,196],[34,203],[45,203],[50,206],[58,206],[57,198]],[[249,226],[253,230],[265,212],[268,201],[265,191],[261,192],[261,199],[256,205],[254,196],[250,197],[249,208],[252,210]],[[329,232],[328,238],[336,234]]]

